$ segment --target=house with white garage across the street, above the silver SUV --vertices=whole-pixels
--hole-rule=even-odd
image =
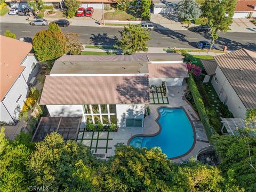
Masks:
[[[174,7],[182,0],[153,0],[154,14],[170,14],[173,13]]]

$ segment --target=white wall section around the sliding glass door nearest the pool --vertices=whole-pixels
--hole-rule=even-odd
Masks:
[[[125,127],[125,118],[142,118],[144,121],[145,105],[116,105],[117,125]],[[144,122],[142,123],[142,125]]]

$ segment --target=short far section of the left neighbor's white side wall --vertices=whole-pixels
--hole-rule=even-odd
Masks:
[[[32,71],[32,65],[35,62],[36,68]],[[24,62],[22,63],[22,66],[25,66],[26,68],[22,71],[22,74],[24,78],[26,79],[27,83],[29,83],[29,80],[32,77],[35,77],[37,74],[37,71],[39,69],[39,65],[37,63],[37,60],[34,55],[27,56]]]

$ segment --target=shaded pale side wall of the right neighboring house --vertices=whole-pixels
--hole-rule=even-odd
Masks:
[[[215,81],[215,77],[218,79],[218,84]],[[211,83],[219,95],[220,100],[228,106],[234,117],[244,118],[246,108],[219,67],[217,67],[216,75],[213,76]]]

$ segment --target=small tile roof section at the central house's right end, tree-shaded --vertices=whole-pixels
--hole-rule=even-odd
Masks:
[[[186,63],[149,63],[149,78],[188,77]]]

